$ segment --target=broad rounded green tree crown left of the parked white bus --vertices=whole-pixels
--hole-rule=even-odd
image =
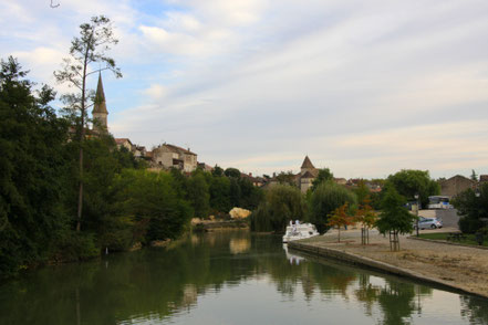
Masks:
[[[423,207],[427,207],[429,196],[440,192],[439,184],[430,179],[428,170],[403,169],[395,175],[390,175],[388,182],[408,201],[414,201],[415,195],[418,193]]]

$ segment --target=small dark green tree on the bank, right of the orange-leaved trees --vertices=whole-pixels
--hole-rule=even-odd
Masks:
[[[413,223],[416,219],[405,208],[406,200],[398,195],[395,188],[390,187],[382,201],[382,211],[376,221],[376,228],[381,233],[393,231],[396,233],[409,233],[413,231]]]

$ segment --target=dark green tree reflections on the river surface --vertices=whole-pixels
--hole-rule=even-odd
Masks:
[[[419,296],[432,294],[346,265],[289,258],[279,237],[225,232],[44,268],[0,286],[0,324],[131,324],[144,317],[164,323],[198,307],[199,296],[256,279],[270,279],[290,301],[298,293],[307,302],[341,298],[364,306],[364,314],[382,324],[407,324],[422,312]],[[467,319],[488,324],[486,301],[461,300]]]

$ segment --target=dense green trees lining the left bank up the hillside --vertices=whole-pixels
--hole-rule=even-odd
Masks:
[[[35,91],[15,59],[1,61],[0,277],[175,239],[193,217],[259,205],[262,191],[235,168],[152,172],[107,133],[80,141],[70,133],[79,116],[58,116],[54,97],[49,86]]]

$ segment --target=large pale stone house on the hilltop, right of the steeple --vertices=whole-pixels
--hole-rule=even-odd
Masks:
[[[197,169],[197,154],[181,147],[163,144],[153,150],[153,164],[158,168],[176,168],[184,172]]]

